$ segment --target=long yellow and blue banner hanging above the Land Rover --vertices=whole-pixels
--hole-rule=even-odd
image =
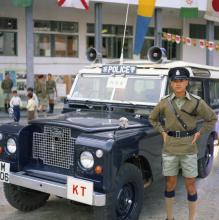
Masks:
[[[156,0],[138,0],[138,15],[136,20],[134,54],[139,55],[147,35],[153,16]]]

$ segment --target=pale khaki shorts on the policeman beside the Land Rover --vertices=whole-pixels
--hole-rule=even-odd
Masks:
[[[197,154],[162,154],[162,163],[164,176],[177,176],[180,168],[182,168],[184,177],[193,178],[198,176]]]

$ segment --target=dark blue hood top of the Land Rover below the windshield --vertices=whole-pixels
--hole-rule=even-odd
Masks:
[[[40,123],[47,125],[67,126],[85,132],[101,132],[122,129],[119,122],[121,117],[128,119],[128,126],[125,129],[149,126],[149,123],[146,120],[106,112],[71,112],[34,120],[31,122],[31,124]]]

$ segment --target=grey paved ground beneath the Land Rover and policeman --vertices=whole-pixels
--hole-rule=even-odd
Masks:
[[[23,123],[25,119],[22,119]],[[2,120],[0,121],[2,123]],[[197,220],[219,220],[219,147],[215,149],[214,167],[206,179],[198,179],[199,204]],[[164,220],[163,206],[164,180],[145,190],[144,205],[139,220]],[[183,179],[179,178],[176,190],[175,219],[187,219],[187,201]],[[48,203],[33,212],[22,213],[12,208],[4,198],[0,183],[0,220],[90,220],[92,209],[89,206],[78,206],[69,201],[51,197]]]

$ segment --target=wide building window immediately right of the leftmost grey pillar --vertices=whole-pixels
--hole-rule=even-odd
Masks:
[[[45,57],[78,57],[78,23],[34,21],[34,54]]]

